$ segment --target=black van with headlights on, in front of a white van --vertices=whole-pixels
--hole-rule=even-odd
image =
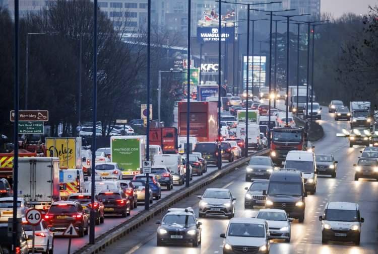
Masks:
[[[273,171],[269,179],[268,190],[263,192],[267,196],[266,208],[285,210],[288,217],[304,221],[306,204],[302,173],[297,170],[282,168]]]

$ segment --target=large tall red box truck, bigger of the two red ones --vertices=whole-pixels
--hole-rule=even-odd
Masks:
[[[178,103],[178,135],[186,136],[187,103]],[[216,102],[190,103],[190,136],[198,142],[216,141],[218,135],[218,107]]]

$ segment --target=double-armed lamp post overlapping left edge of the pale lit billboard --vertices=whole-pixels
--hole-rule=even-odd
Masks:
[[[245,101],[245,145],[246,145],[246,149],[245,149],[245,157],[248,156],[248,99],[249,99],[249,96],[248,96],[248,83],[249,83],[249,75],[248,75],[248,67],[249,67],[249,21],[250,21],[250,11],[251,10],[255,10],[255,9],[250,9],[251,6],[255,6],[255,5],[270,5],[270,4],[277,4],[277,3],[282,3],[282,2],[269,2],[269,3],[256,3],[256,4],[242,4],[242,3],[230,3],[230,2],[226,2],[226,1],[223,1],[223,3],[229,3],[229,4],[237,4],[237,5],[244,5],[244,6],[247,6],[247,66],[246,66],[246,101]],[[257,10],[257,9],[256,9]],[[260,11],[260,10],[258,10]],[[253,59],[253,56],[252,56],[252,59]],[[253,79],[254,77],[252,77]],[[252,91],[253,93],[253,91]]]

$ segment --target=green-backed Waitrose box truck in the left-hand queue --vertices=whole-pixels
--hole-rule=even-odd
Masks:
[[[142,171],[146,159],[146,136],[112,136],[111,162],[118,163],[122,178],[133,178]]]

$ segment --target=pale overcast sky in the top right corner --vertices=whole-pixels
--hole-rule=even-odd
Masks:
[[[322,13],[331,13],[335,18],[344,13],[365,14],[368,5],[375,6],[378,0],[321,0]]]

